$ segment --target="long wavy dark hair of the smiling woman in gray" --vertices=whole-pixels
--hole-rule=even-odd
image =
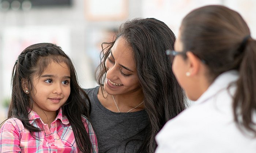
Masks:
[[[165,23],[154,18],[136,18],[123,23],[113,42],[102,43],[97,77],[101,87],[106,78],[105,61],[120,36],[132,47],[149,119],[148,129],[145,129],[147,135],[139,152],[153,153],[157,146],[156,134],[169,119],[186,107],[184,91],[178,85],[172,64],[165,54],[167,49],[173,50],[176,38]]]

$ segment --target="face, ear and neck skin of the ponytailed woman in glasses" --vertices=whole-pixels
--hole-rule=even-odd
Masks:
[[[182,34],[179,32],[178,39],[174,44],[174,49],[177,52],[186,52],[187,58],[181,54],[175,56],[173,60],[173,73],[180,84],[185,90],[187,97],[192,101],[196,101],[210,86],[207,73],[207,67],[202,61],[195,56],[191,51],[185,51],[181,41]]]

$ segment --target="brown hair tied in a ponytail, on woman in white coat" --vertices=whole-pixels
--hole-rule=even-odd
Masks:
[[[207,62],[210,82],[223,72],[239,71],[234,119],[239,127],[256,134],[252,121],[256,110],[256,41],[244,19],[227,7],[208,5],[185,16],[180,30],[184,51],[191,51]]]

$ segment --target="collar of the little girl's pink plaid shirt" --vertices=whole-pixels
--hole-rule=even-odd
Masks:
[[[61,107],[57,111],[58,111],[57,117],[54,119],[53,122],[56,122],[59,119],[64,125],[69,124],[68,118],[65,115],[62,114]],[[36,119],[38,119],[39,121],[42,122],[41,118],[39,117],[39,115],[35,111],[29,109],[28,113],[29,113],[28,116],[29,116],[29,120],[30,120],[29,123],[30,124],[32,124]]]

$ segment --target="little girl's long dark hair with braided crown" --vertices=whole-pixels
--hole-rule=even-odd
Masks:
[[[88,152],[88,150],[92,150],[92,145],[83,125],[81,115],[89,116],[90,110],[87,109],[88,106],[86,106],[84,102],[84,97],[89,101],[89,105],[90,100],[87,94],[78,85],[76,71],[71,59],[55,44],[34,44],[20,53],[12,70],[12,98],[8,110],[8,118],[16,117],[20,119],[24,127],[26,127],[32,135],[34,135],[33,132],[41,130],[29,123],[27,110],[29,108],[32,109],[33,100],[29,94],[24,93],[22,89],[22,79],[28,82],[30,90],[33,89],[33,76],[40,76],[51,62],[64,62],[69,68],[71,92],[67,102],[65,102],[61,108],[63,114],[67,116],[72,126],[75,141],[79,149],[82,152]]]

